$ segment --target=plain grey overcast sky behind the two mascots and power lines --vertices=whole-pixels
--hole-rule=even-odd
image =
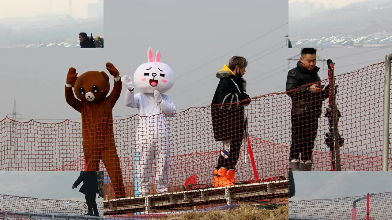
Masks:
[[[225,7],[222,7],[223,2]],[[185,10],[189,8],[192,11]],[[274,19],[260,22],[270,17]],[[133,76],[134,70],[146,61],[148,47],[161,50],[162,61],[171,66],[176,75],[174,87],[167,94],[178,109],[211,104],[218,84],[215,73],[234,55],[249,60],[244,78],[248,80],[250,96],[280,91],[285,88],[289,70],[287,58],[300,51],[285,48],[288,25],[284,24],[287,20],[284,0],[272,1],[268,7],[255,0],[243,4],[233,0],[107,1],[103,50],[2,50],[5,56],[0,61],[3,70],[0,77],[6,83],[0,92],[7,95],[2,96],[0,112],[11,113],[13,100],[16,100],[17,112],[22,118],[80,118],[80,114],[65,102],[64,84],[69,67],[75,67],[79,74],[88,70],[106,71],[105,63],[110,61],[121,75]],[[124,25],[124,21],[129,22]],[[260,39],[252,41],[258,37]],[[232,50],[235,51],[230,52]],[[383,61],[385,55],[392,52],[390,49],[369,51],[324,49],[319,50],[318,55],[328,59],[356,54],[334,60],[336,74],[342,74]],[[318,65],[322,67],[321,63]],[[294,66],[292,61],[290,68]],[[327,70],[321,71],[320,77],[327,78]],[[124,90],[113,109],[114,116],[136,114],[135,109],[123,104]]]

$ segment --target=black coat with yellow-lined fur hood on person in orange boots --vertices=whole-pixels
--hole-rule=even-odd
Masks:
[[[215,141],[231,140],[243,135],[246,126],[244,106],[250,103],[249,96],[245,93],[246,81],[226,70],[220,70],[216,77],[220,81],[211,103],[214,138]],[[247,101],[242,101],[245,99]]]

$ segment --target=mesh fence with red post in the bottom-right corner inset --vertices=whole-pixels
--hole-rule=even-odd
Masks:
[[[392,219],[392,192],[374,194],[367,199],[354,201],[365,196],[289,201],[289,220],[389,220]],[[368,207],[369,206],[369,209]],[[354,214],[355,213],[355,214]],[[367,218],[369,213],[369,218]]]

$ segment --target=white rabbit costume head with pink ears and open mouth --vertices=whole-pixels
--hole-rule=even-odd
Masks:
[[[142,93],[154,93],[158,90],[165,93],[174,85],[173,70],[166,63],[161,63],[161,54],[156,51],[155,61],[152,57],[151,47],[147,50],[147,63],[136,69],[133,79],[135,87]]]

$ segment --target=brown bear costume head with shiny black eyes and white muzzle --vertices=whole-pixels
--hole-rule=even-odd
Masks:
[[[86,103],[101,101],[109,89],[109,76],[103,71],[85,72],[78,76],[74,85],[76,97]]]

